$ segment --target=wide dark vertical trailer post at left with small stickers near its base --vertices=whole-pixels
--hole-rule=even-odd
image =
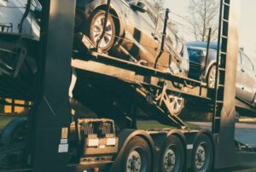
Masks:
[[[29,118],[28,163],[33,171],[67,171],[75,1],[42,3],[38,97]]]

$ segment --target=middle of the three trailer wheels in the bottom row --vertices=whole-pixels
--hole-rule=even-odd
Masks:
[[[162,147],[160,157],[160,171],[183,171],[184,149],[177,136],[170,135]]]

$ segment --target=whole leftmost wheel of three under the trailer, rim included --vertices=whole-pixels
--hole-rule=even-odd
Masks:
[[[122,159],[124,172],[148,172],[151,168],[151,152],[146,140],[136,136],[125,148]]]

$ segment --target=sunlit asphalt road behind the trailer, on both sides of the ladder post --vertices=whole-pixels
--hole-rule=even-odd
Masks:
[[[194,122],[193,122],[194,123]],[[194,123],[201,129],[211,129],[212,123]],[[236,140],[256,147],[256,123],[236,123]]]

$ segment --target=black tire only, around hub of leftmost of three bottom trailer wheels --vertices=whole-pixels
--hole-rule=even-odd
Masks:
[[[139,170],[139,172],[151,171],[152,160],[150,148],[148,146],[147,141],[139,136],[133,137],[125,147],[125,152],[122,158],[122,171],[127,172],[127,160],[129,158],[130,153],[133,151],[137,151],[140,157],[142,158],[142,168]]]

